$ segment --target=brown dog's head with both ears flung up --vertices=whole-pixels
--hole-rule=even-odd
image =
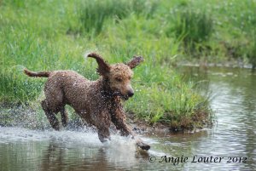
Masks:
[[[87,56],[96,59],[98,63],[97,72],[102,77],[108,78],[109,88],[114,94],[119,95],[123,100],[128,100],[134,94],[134,90],[131,87],[131,78],[133,76],[131,69],[143,62],[142,56],[134,56],[126,64],[118,63],[113,65],[109,65],[99,54],[91,53]]]

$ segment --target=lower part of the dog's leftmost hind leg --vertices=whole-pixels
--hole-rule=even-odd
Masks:
[[[42,108],[45,112],[47,119],[49,120],[51,127],[54,128],[55,130],[60,130],[59,121],[58,121],[57,117],[55,117],[55,113],[53,111],[49,110],[49,108],[47,107],[46,100],[43,100],[41,102],[41,105],[42,105]]]

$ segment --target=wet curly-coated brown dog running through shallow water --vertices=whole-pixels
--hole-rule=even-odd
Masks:
[[[132,68],[138,66],[143,57],[135,56],[127,64],[108,65],[99,54],[91,53],[88,57],[96,59],[97,72],[101,76],[96,81],[90,81],[75,71],[40,71],[24,70],[29,77],[48,77],[44,87],[45,100],[41,105],[50,125],[59,130],[59,121],[55,117],[61,112],[61,123],[67,125],[67,111],[65,105],[73,109],[98,129],[99,139],[104,142],[110,140],[109,127],[113,122],[121,135],[133,137],[131,128],[125,123],[125,111],[121,100],[128,100],[134,91],[131,88]],[[137,145],[148,150],[142,140]]]

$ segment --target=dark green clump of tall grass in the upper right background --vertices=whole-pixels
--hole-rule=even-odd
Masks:
[[[194,52],[196,45],[204,45],[213,32],[213,20],[205,11],[184,9],[172,16],[172,26],[166,34],[183,41],[185,51]]]

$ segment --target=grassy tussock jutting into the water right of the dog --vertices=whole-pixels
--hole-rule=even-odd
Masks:
[[[165,123],[171,128],[194,128],[201,120],[194,119],[200,112],[207,111],[208,101],[193,90],[194,83],[183,83],[183,79],[175,72],[172,77],[163,77],[162,83],[152,82],[148,85],[137,85],[134,100],[128,101],[128,111],[137,113],[137,117],[146,119],[148,123]],[[206,119],[205,114],[203,117]]]

